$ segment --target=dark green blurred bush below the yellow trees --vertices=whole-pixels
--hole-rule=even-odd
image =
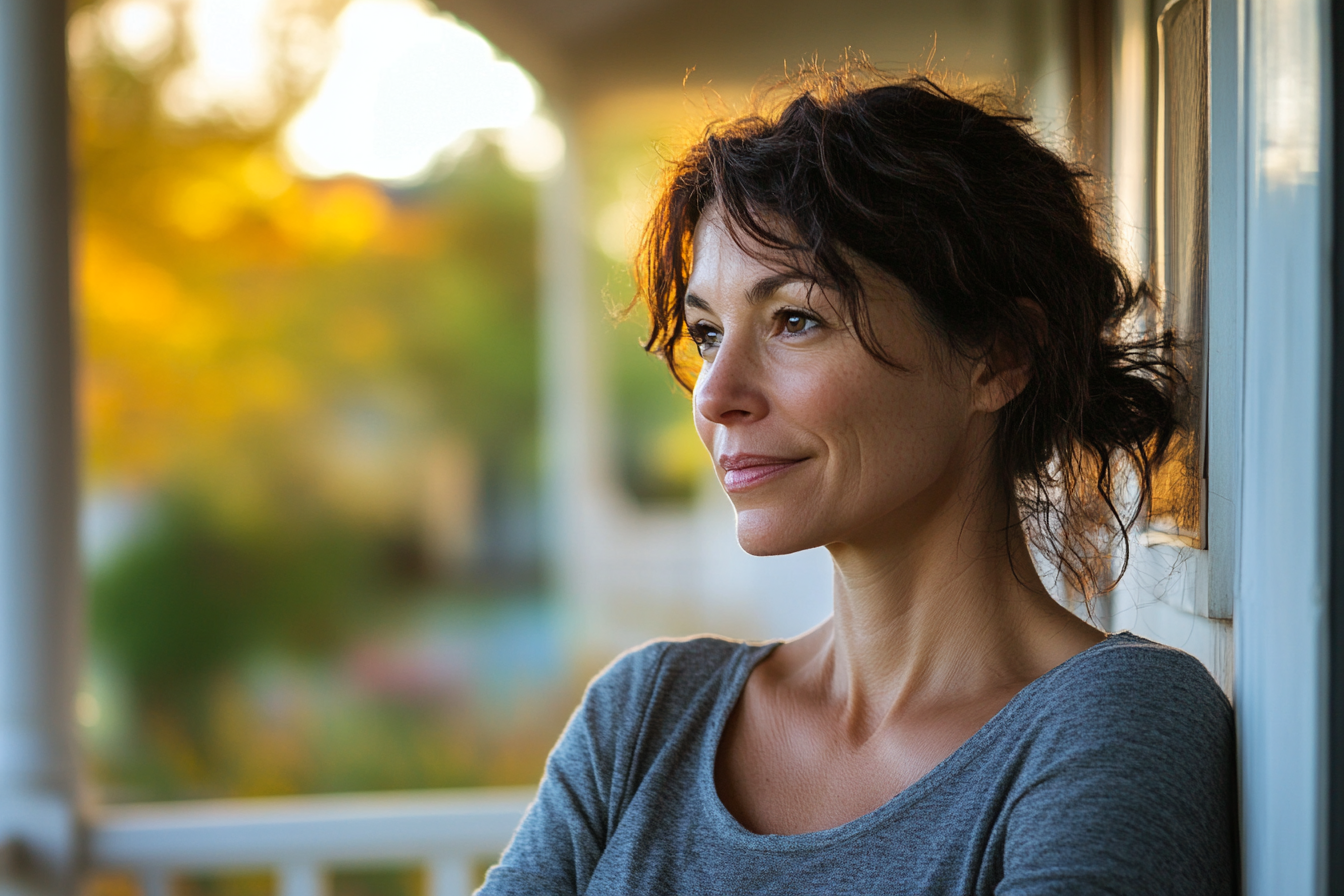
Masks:
[[[141,701],[187,709],[261,650],[339,646],[383,572],[375,559],[367,537],[333,523],[228,527],[199,500],[169,500],[93,576],[94,643]]]

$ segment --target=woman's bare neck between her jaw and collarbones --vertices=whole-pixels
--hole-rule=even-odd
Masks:
[[[945,494],[948,492],[945,490]],[[1015,509],[986,490],[902,508],[828,545],[835,614],[798,642],[798,672],[856,736],[894,716],[1015,693],[1099,633],[1046,592]]]

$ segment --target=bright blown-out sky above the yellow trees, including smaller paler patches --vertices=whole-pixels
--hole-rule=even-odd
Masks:
[[[482,132],[520,175],[543,177],[564,154],[539,113],[531,78],[474,31],[425,0],[351,0],[328,31],[309,0],[105,0],[71,21],[71,56],[101,44],[132,70],[172,50],[185,60],[161,87],[183,122],[231,118],[263,126],[278,82],[320,75],[282,129],[286,156],[309,177],[358,175],[415,183]],[[180,24],[179,24],[180,23]]]

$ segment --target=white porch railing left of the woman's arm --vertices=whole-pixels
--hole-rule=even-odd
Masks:
[[[277,896],[323,896],[332,869],[419,865],[426,896],[466,896],[478,862],[508,845],[532,789],[220,799],[108,806],[90,827],[95,870],[126,870],[144,896],[175,875],[271,869]]]

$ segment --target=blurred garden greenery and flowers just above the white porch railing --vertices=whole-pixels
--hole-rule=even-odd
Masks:
[[[527,785],[582,685],[524,653],[536,669],[484,690],[476,670],[388,690],[379,669],[406,662],[391,645],[426,629],[501,638],[491,621],[544,604],[445,591],[405,537],[301,509],[237,519],[165,500],[90,598],[94,652],[130,704],[90,756],[112,799]]]

